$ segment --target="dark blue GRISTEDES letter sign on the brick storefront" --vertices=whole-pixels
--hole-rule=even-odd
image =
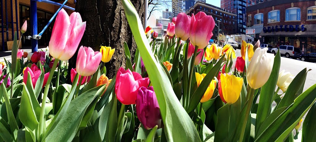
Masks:
[[[280,26],[269,26],[269,27],[263,27],[263,32],[264,33],[271,33],[271,32],[279,32],[279,31],[285,31],[285,32],[293,32],[294,30],[296,32],[302,31],[305,32],[306,31],[306,27],[305,25],[280,25]]]

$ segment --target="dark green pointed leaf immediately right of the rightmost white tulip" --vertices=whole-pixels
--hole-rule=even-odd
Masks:
[[[309,70],[308,70],[309,71]],[[304,68],[300,73],[298,73],[293,81],[290,83],[288,89],[285,92],[284,97],[282,98],[279,105],[276,107],[276,109],[289,106],[293,103],[295,98],[297,98],[302,92],[307,76],[307,69]]]

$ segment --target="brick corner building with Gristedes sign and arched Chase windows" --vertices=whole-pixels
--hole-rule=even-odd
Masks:
[[[316,52],[316,1],[267,0],[247,7],[250,35],[273,47],[293,45]]]

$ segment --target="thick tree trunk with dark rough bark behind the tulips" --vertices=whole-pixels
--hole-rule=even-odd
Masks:
[[[143,20],[144,0],[131,2]],[[100,51],[101,45],[115,48],[111,61],[105,64],[106,76],[113,78],[120,66],[125,67],[124,42],[127,42],[131,51],[131,60],[137,48],[121,0],[77,0],[76,12],[80,13],[82,21],[87,21],[79,47],[89,46],[94,51]],[[69,61],[69,70],[76,66],[78,50]]]

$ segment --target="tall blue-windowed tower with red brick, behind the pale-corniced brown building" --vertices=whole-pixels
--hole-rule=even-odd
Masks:
[[[246,33],[246,7],[264,0],[221,0],[221,8],[237,13],[237,32]]]

